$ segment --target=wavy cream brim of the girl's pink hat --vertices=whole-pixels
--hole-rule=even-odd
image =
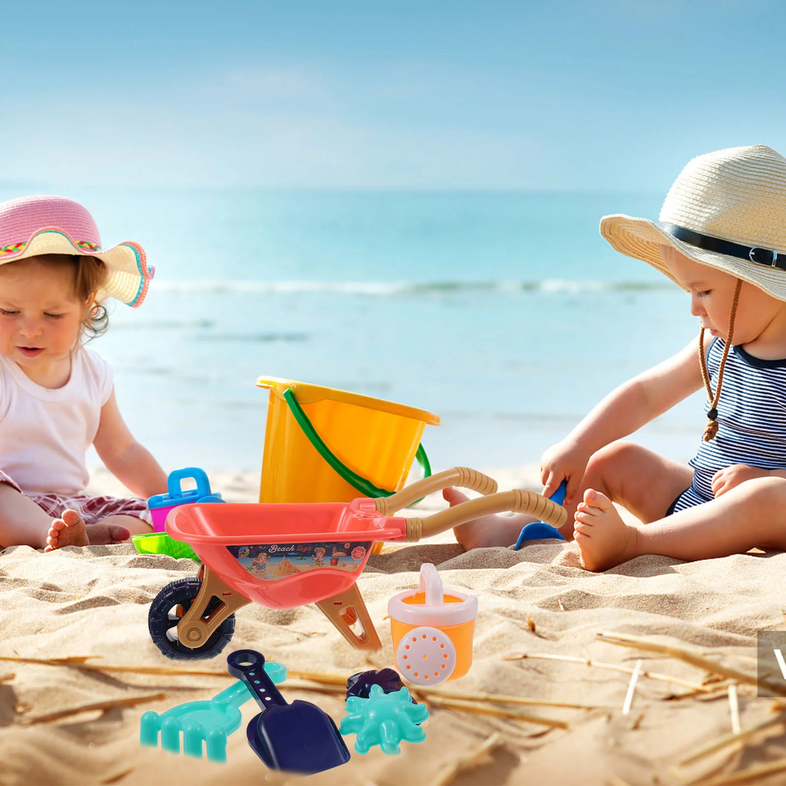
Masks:
[[[98,290],[97,299],[102,301],[113,297],[131,307],[141,306],[155,274],[155,268],[148,264],[141,245],[127,241],[105,251],[94,248],[88,243],[79,244],[57,226],[48,226],[33,233],[24,244],[16,244],[8,250],[0,249],[0,265],[41,254],[94,256],[101,259],[108,273],[104,285]]]

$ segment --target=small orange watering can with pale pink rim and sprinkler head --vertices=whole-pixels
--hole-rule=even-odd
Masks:
[[[387,603],[396,667],[415,685],[439,685],[463,677],[472,666],[478,599],[443,592],[431,563],[421,566],[419,592],[402,592]]]

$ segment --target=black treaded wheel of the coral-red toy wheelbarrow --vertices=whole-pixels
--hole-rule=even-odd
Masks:
[[[176,582],[167,584],[150,604],[148,612],[150,637],[153,644],[167,658],[172,660],[215,658],[232,639],[235,632],[235,615],[230,614],[204,645],[192,649],[178,641],[178,623],[191,608],[201,586],[202,579],[196,576],[178,578]],[[212,597],[207,613],[210,614],[220,604],[219,598]]]

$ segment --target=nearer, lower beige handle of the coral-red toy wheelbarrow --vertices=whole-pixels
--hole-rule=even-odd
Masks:
[[[388,499],[392,499],[392,497]],[[539,520],[545,521],[557,529],[567,521],[567,510],[562,505],[557,505],[556,502],[546,499],[542,494],[535,494],[534,491],[513,489],[462,502],[461,505],[454,505],[452,508],[441,510],[424,519],[407,518],[404,539],[408,543],[417,542],[421,538],[430,538],[432,535],[449,530],[451,527],[457,527],[459,524],[508,510],[536,516]]]

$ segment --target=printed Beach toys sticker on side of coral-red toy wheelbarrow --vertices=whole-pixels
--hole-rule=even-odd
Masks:
[[[357,571],[369,553],[368,543],[266,543],[228,545],[226,550],[254,578],[274,582],[306,571],[333,568]]]

